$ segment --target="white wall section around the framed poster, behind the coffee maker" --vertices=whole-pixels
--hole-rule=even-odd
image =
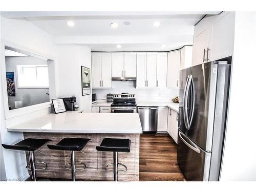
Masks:
[[[87,46],[58,46],[59,96],[76,97],[76,104],[84,112],[91,112],[91,94],[82,96],[81,66],[91,69],[91,49]]]

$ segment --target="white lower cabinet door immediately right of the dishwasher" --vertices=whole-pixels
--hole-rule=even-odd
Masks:
[[[168,108],[166,106],[158,107],[157,131],[167,132]]]

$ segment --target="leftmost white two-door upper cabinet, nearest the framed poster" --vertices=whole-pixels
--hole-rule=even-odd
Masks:
[[[92,53],[92,88],[111,88],[111,53]]]

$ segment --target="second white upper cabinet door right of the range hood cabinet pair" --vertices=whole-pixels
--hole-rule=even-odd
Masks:
[[[157,53],[146,54],[146,87],[157,87]]]

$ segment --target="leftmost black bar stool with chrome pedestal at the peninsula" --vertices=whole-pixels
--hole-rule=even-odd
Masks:
[[[24,139],[14,145],[2,144],[2,146],[8,150],[26,151],[29,154],[29,164],[26,168],[31,171],[31,177],[33,181],[36,181],[36,170],[46,169],[47,163],[39,161],[35,162],[34,151],[38,150],[42,145],[51,141],[50,139]],[[39,150],[38,150],[39,151]],[[39,151],[40,152],[40,151]],[[40,152],[42,153],[42,152]],[[43,168],[36,168],[36,164],[44,164]]]

